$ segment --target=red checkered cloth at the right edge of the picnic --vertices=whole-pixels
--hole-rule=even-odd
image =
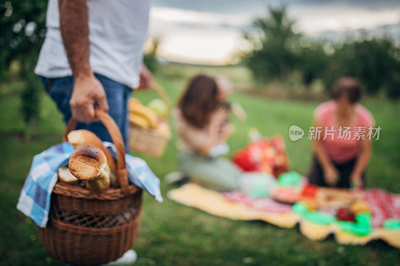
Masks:
[[[372,227],[382,227],[387,219],[400,219],[400,195],[382,189],[368,189],[364,200],[372,214]]]

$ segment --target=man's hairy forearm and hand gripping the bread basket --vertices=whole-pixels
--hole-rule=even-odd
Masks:
[[[69,100],[72,116],[82,122],[94,120],[94,104],[108,112],[101,83],[89,64],[89,28],[86,0],[58,0],[62,42],[74,78]]]

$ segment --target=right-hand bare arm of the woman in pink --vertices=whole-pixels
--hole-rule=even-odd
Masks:
[[[361,188],[364,185],[361,176],[365,172],[369,159],[371,158],[372,140],[361,140],[360,146],[361,150],[358,159],[355,162],[354,169],[350,175],[350,182],[354,184],[356,188]]]

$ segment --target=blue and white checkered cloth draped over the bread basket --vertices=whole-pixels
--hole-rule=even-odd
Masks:
[[[104,142],[104,146],[115,155],[115,147],[112,143]],[[68,164],[72,152],[72,145],[63,142],[33,157],[16,209],[31,218],[39,227],[45,227],[48,221],[50,196],[58,180],[58,168]],[[129,154],[125,155],[125,161],[129,181],[162,202],[159,179],[147,163]]]

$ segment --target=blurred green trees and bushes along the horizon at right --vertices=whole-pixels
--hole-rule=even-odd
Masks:
[[[322,79],[329,88],[336,78],[352,75],[370,95],[384,91],[400,97],[400,49],[390,38],[330,43],[294,33],[293,24],[286,6],[269,7],[265,17],[254,21],[256,31],[244,34],[253,49],[243,60],[257,79],[286,79],[299,72],[306,87]]]

